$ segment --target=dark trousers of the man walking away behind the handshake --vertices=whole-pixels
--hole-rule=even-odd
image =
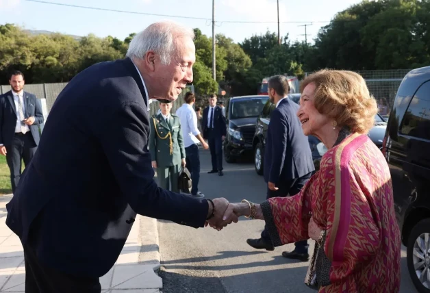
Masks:
[[[285,197],[285,196],[292,196],[295,194],[298,194],[300,190],[305,186],[305,183],[309,180],[309,178],[312,176],[312,173],[309,173],[303,177],[292,179],[292,180],[284,180],[282,182],[279,182],[276,184],[276,187],[279,188],[278,190],[270,190],[267,188],[267,194],[266,199],[270,199],[272,197]],[[268,227],[267,225],[264,226],[264,230],[262,231],[262,238],[267,241],[270,240],[270,235],[268,233]],[[296,248],[294,251],[297,253],[307,253],[308,245],[307,240],[299,241],[294,244]]]

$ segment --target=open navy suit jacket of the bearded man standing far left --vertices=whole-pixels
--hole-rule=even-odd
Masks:
[[[29,126],[31,136],[36,145],[39,144],[40,133],[39,125],[43,123],[42,104],[34,94],[23,93],[25,118],[34,117],[33,125]],[[12,91],[0,95],[0,144],[4,144],[6,149],[12,146],[16,127],[16,107]]]

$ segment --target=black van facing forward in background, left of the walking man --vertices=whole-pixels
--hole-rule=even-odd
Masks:
[[[227,137],[224,140],[224,158],[227,163],[236,162],[241,155],[253,151],[255,121],[268,96],[234,97],[225,111]]]

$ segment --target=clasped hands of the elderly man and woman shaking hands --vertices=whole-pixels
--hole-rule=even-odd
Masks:
[[[229,203],[227,199],[220,198],[207,200],[209,210],[205,227],[210,227],[220,231],[232,222],[238,222],[240,216],[263,220],[263,213],[260,205],[255,205],[249,201],[242,203]]]

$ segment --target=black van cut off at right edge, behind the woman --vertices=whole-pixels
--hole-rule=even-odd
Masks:
[[[430,66],[401,82],[383,141],[409,275],[430,292]]]

